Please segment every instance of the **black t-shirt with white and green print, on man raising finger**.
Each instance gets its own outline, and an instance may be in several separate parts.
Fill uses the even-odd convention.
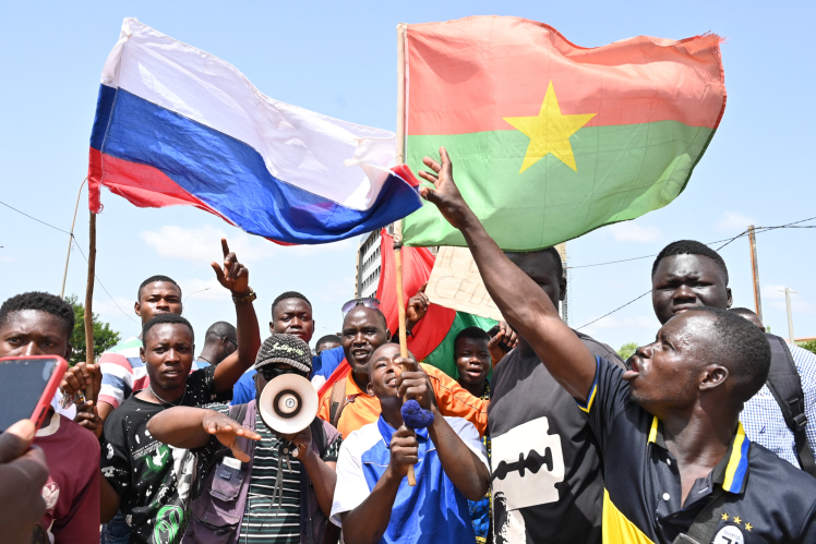
[[[215,366],[190,374],[178,406],[231,399],[231,389],[215,392],[214,375]],[[120,510],[131,528],[131,543],[176,544],[187,525],[195,457],[190,450],[157,442],[147,432],[151,418],[168,407],[132,395],[105,422],[101,471],[121,497]]]

